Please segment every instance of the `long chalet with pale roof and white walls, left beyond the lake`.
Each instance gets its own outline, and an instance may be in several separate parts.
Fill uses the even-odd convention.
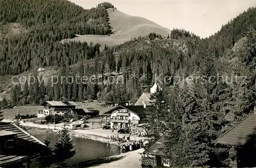
[[[44,106],[44,109],[37,111],[37,117],[45,117],[54,114],[64,115],[70,109],[74,109],[78,106],[78,104],[73,101],[45,101],[41,105]]]

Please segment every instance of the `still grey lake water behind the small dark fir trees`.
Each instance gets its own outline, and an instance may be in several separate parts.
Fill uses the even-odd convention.
[[[44,135],[33,135],[42,141]],[[51,133],[52,143],[50,146],[54,148],[54,144],[58,142],[59,134]],[[74,142],[74,150],[76,154],[67,159],[65,162],[71,165],[74,165],[79,162],[93,160],[108,156],[117,155],[120,153],[120,147],[112,144],[105,144],[98,141],[93,141],[91,139],[81,138],[81,137],[72,137]],[[34,162],[32,164],[35,164]],[[34,167],[31,164],[32,167]]]

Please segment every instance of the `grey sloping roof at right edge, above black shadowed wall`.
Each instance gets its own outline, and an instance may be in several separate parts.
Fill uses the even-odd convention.
[[[216,142],[232,146],[243,146],[253,136],[256,136],[255,113],[248,115],[244,120],[216,139]]]

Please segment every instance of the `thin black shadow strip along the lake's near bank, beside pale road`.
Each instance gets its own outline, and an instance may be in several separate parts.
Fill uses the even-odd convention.
[[[109,158],[100,158],[100,159],[94,159],[94,160],[87,160],[87,161],[81,161],[72,167],[91,167],[100,165],[103,163],[110,163],[112,161],[117,161],[124,158],[124,156],[117,156],[117,157],[109,157]]]

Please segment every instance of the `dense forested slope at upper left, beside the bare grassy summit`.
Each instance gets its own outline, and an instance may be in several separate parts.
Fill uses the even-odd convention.
[[[106,8],[109,3],[84,10],[68,2],[1,1],[2,24],[18,23],[27,31],[15,37],[4,37],[0,44],[0,74],[19,74],[48,66],[72,65],[95,57],[99,44],[68,43],[60,40],[75,34],[111,34]]]

